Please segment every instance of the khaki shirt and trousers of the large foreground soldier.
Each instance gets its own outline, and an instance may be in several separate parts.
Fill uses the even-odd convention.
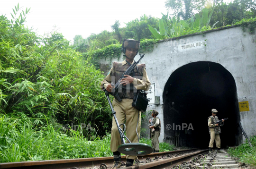
[[[148,90],[150,86],[150,81],[148,79],[148,76],[146,74],[146,68],[145,64],[137,65],[137,68],[134,68],[135,70],[135,76],[134,80],[132,82],[132,87],[135,87],[137,90]],[[113,68],[110,69],[109,74],[106,76],[106,78],[101,82],[101,89],[103,87],[106,89],[108,84],[116,83],[120,76],[129,68],[128,63],[126,60],[123,62],[114,62]],[[139,76],[141,75],[141,76]],[[118,79],[118,80],[117,80]],[[132,91],[132,90],[131,90]],[[126,120],[126,136],[132,143],[137,143],[138,138],[136,134],[136,127],[137,127],[137,119],[138,119],[138,113],[139,113],[139,122],[137,127],[138,135],[140,134],[140,112],[139,110],[132,107],[132,99],[133,94],[129,92],[129,90],[126,91],[126,93],[120,92],[119,96],[121,97],[122,101],[118,101],[116,99],[113,100],[112,105],[114,110],[116,111],[116,116],[118,119],[119,124],[124,123]],[[110,149],[111,152],[117,152],[118,146],[121,144],[121,139],[118,131],[118,127],[116,125],[115,119],[112,119],[112,128],[111,128],[111,142],[110,142]],[[137,156],[130,156],[127,155],[127,159],[137,159]]]

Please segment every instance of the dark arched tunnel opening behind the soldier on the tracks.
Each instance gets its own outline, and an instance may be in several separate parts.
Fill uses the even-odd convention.
[[[236,83],[219,63],[199,61],[176,69],[165,84],[163,101],[165,139],[171,144],[207,148],[211,109],[218,110],[219,120],[229,118],[221,127],[221,148],[241,143]]]

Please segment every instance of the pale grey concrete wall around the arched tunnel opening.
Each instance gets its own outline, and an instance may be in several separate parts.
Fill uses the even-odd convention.
[[[147,108],[147,110],[155,109],[159,111],[158,117],[161,119],[162,123],[161,135],[159,137],[160,142],[168,142],[166,138],[173,136],[172,134],[168,133],[166,129],[167,122],[164,120],[168,118],[165,117],[168,115],[164,113],[164,111],[166,111],[164,110],[165,104],[163,101],[165,84],[176,69],[189,63],[201,61],[221,65],[227,70],[227,72],[230,73],[230,76],[233,77],[237,90],[236,96],[234,96],[237,98],[234,98],[234,100],[237,99],[237,101],[234,103],[236,110],[232,109],[232,111],[237,111],[234,112],[234,116],[238,116],[236,117],[236,120],[241,122],[247,135],[256,135],[255,41],[255,34],[243,32],[241,27],[231,26],[217,31],[209,31],[203,34],[193,34],[183,36],[182,38],[160,41],[158,44],[155,44],[154,51],[145,53],[146,55],[140,63],[146,64],[146,71],[150,82],[155,84],[155,96],[160,96],[160,105],[151,105]],[[121,54],[119,61],[123,60],[122,55],[123,54]],[[138,58],[139,55],[135,57],[135,60],[138,60]],[[105,75],[112,67],[110,63],[113,61],[118,61],[118,59],[100,60],[101,70],[105,73]],[[239,112],[238,103],[242,101],[248,101],[249,110]],[[201,119],[201,127],[208,128],[208,126],[206,126],[206,119],[211,115],[210,107],[208,110],[204,110],[205,114],[198,115],[198,118]],[[215,109],[217,108],[215,107]],[[230,113],[229,116],[230,115],[232,115],[232,113]],[[227,118],[221,115],[221,111],[219,111],[217,116],[219,118]],[[230,121],[226,121],[220,138],[226,138],[224,135],[229,131],[224,128],[231,124],[234,125]],[[147,123],[143,124],[142,122],[142,127],[145,127],[147,130]],[[240,133],[240,136],[236,136],[237,142],[235,144],[238,144],[238,142],[241,143],[241,131],[236,125],[233,127],[233,130],[238,130],[234,133]],[[232,132],[232,127],[228,128]],[[146,131],[146,134],[149,135],[148,130]],[[204,130],[201,135],[208,144],[210,141],[209,133]],[[244,136],[243,140],[245,140]]]

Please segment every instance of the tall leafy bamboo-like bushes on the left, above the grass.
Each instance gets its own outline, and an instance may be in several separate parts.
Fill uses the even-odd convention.
[[[0,113],[23,112],[38,127],[46,124],[44,116],[53,125],[90,123],[94,134],[105,135],[112,120],[99,87],[104,76],[91,64],[98,41],[84,58],[55,30],[40,37],[24,27],[28,11],[15,9],[15,22],[0,16]]]

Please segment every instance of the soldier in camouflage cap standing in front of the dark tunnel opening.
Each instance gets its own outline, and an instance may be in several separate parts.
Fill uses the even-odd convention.
[[[212,150],[213,148],[213,143],[215,140],[216,147],[218,151],[220,151],[220,137],[219,134],[221,133],[219,124],[215,124],[217,121],[219,121],[218,117],[216,116],[217,114],[216,109],[211,110],[211,115],[208,117],[208,127],[209,127],[209,133],[210,133],[210,144],[209,144],[209,151]],[[224,123],[224,120],[222,119],[222,123]]]

